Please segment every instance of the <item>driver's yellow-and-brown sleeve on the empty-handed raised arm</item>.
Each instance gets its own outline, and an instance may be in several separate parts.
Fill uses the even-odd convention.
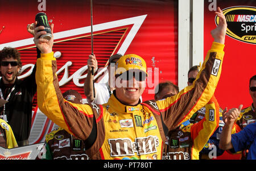
[[[175,96],[156,102],[169,131],[191,118],[212,98],[221,75],[223,49],[224,44],[213,42],[193,85],[185,87]]]

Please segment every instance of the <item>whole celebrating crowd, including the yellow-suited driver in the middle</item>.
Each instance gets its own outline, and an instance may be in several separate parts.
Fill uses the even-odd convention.
[[[245,109],[221,109],[214,91],[220,80],[226,18],[210,33],[214,39],[202,66],[188,71],[183,90],[162,82],[155,99],[142,102],[148,76],[146,62],[135,54],[109,58],[109,81],[93,82],[96,55],[89,55],[84,93],[61,93],[53,57],[53,37],[43,39],[44,26],[28,24],[38,59],[31,75],[18,80],[22,62],[15,48],[0,51],[0,146],[28,145],[32,99],[37,91],[39,109],[59,128],[46,136],[44,159],[212,159],[225,150],[256,159],[256,75],[249,81],[253,103]],[[51,24],[53,34],[53,24]],[[114,66],[114,71],[111,67]],[[115,85],[112,84],[115,80]],[[249,122],[251,121],[251,122]],[[214,153],[212,153],[214,151]]]

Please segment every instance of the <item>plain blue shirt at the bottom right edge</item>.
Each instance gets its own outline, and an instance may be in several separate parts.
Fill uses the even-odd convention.
[[[256,123],[251,123],[242,131],[232,135],[232,145],[236,152],[249,148],[248,160],[256,160]]]

